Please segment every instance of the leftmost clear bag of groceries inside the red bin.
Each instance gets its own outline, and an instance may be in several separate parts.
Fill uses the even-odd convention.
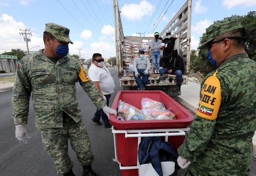
[[[119,100],[117,116],[121,116],[124,120],[145,120],[143,114],[138,108]]]

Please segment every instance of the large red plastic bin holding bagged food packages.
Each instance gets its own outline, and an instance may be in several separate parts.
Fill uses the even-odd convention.
[[[182,107],[178,102],[172,99],[163,91],[119,91],[116,94],[115,100],[112,104],[112,108],[118,110],[119,100],[124,101],[138,109],[141,109],[142,98],[150,98],[164,103],[166,109],[169,109],[176,115],[176,120],[142,120],[142,121],[120,121],[115,118],[114,115],[109,116],[109,122],[114,127],[115,131],[120,133],[114,133],[116,144],[116,157],[120,166],[136,166],[138,156],[138,137],[125,137],[125,133],[122,131],[129,130],[154,130],[154,129],[181,129],[187,128],[191,125],[194,116],[188,112],[187,109]],[[131,131],[130,131],[131,132]],[[162,137],[164,140],[164,137]],[[174,149],[180,147],[185,139],[184,136],[169,136],[168,142],[172,143]],[[120,167],[121,168],[121,167]],[[138,173],[138,169],[122,170],[122,176],[134,175],[131,172]],[[137,174],[135,174],[137,175]]]

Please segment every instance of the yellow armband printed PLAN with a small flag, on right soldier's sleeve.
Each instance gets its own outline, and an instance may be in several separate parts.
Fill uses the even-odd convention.
[[[220,81],[216,77],[217,73],[218,70],[216,70],[213,76],[205,80],[196,111],[197,116],[209,120],[215,120],[217,118],[221,103]]]

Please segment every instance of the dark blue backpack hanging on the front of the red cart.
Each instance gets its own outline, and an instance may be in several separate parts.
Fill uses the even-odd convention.
[[[177,175],[179,156],[174,151],[172,144],[162,141],[160,136],[144,137],[139,145],[138,157],[140,165],[151,163],[159,176],[163,176],[161,162],[172,161],[175,163],[175,172],[171,176]]]

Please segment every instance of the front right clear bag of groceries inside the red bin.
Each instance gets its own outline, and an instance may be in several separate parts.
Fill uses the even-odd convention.
[[[143,108],[141,110],[145,120],[173,120],[176,115],[168,109]]]

